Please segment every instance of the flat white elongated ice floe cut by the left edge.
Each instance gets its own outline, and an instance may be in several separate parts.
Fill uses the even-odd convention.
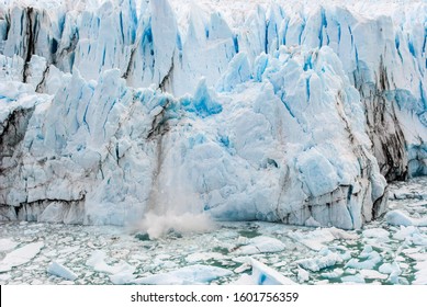
[[[12,270],[13,266],[19,266],[30,262],[44,247],[44,242],[34,242],[26,245],[22,248],[18,248],[8,253],[0,262],[0,273]]]

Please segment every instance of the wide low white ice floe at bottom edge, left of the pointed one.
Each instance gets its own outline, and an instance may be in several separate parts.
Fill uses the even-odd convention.
[[[143,285],[207,284],[216,278],[232,274],[233,272],[226,269],[194,264],[169,273],[159,273],[147,277],[135,278],[130,281],[130,283]]]

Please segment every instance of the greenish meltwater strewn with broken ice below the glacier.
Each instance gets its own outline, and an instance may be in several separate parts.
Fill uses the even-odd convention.
[[[391,184],[389,197],[386,214],[359,230],[216,221],[150,239],[121,227],[1,221],[0,284],[250,284],[255,269],[282,283],[426,284],[427,178]]]

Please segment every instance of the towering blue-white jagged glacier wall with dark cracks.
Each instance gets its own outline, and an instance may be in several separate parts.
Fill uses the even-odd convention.
[[[425,3],[100,2],[0,3],[0,218],[350,229],[427,174]]]

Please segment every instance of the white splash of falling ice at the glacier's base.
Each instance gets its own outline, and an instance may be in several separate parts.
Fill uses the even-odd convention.
[[[164,214],[157,214],[156,212],[148,212],[141,221],[138,229],[147,232],[150,239],[157,239],[170,231],[179,234],[211,231],[215,229],[215,224],[204,213],[176,214],[173,211],[168,211]]]

